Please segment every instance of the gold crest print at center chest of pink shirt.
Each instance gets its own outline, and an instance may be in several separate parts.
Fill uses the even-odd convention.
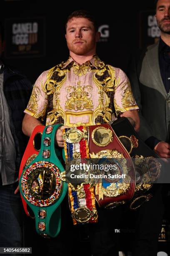
[[[92,95],[90,91],[92,87],[90,85],[80,85],[80,81],[76,86],[67,86],[67,101],[65,102],[65,109],[69,110],[84,110],[93,108]]]

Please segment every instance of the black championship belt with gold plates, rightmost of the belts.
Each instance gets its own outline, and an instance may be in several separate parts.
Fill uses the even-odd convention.
[[[150,189],[160,176],[160,157],[139,137],[128,118],[116,120],[112,128],[133,159],[136,186],[130,208],[137,209],[152,197]]]

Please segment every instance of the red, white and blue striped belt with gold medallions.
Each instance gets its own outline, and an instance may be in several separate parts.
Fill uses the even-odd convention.
[[[87,129],[85,126],[66,128],[63,130],[65,141],[65,159],[90,158],[87,146]],[[97,222],[97,210],[95,207],[94,184],[68,183],[69,207],[72,213],[73,224]]]

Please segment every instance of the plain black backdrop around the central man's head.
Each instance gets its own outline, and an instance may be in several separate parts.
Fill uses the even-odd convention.
[[[1,0],[2,1],[2,0]],[[1,7],[2,6],[2,7]],[[45,56],[27,59],[8,59],[33,82],[44,70],[68,57],[65,41],[65,20],[74,10],[90,10],[100,25],[108,24],[110,38],[97,44],[100,59],[126,72],[129,59],[140,46],[140,12],[154,10],[154,0],[141,1],[2,1],[0,19],[44,17]],[[5,31],[6,35],[9,31]],[[43,39],[42,39],[43,40]]]

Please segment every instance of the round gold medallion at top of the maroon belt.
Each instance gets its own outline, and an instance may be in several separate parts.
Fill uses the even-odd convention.
[[[112,140],[113,135],[109,128],[98,126],[92,131],[92,141],[99,147],[107,146]]]

